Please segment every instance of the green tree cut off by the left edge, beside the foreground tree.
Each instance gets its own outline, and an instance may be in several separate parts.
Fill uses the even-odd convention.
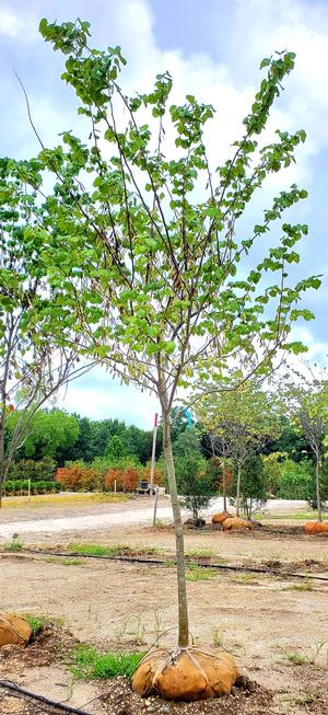
[[[81,338],[72,333],[74,319],[46,281],[40,260],[48,234],[37,206],[39,166],[36,160],[0,159],[0,506],[31,420],[61,385],[86,369],[77,367]]]

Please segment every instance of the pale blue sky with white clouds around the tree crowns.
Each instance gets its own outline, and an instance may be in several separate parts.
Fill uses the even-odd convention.
[[[31,157],[38,146],[13,70],[28,93],[33,118],[44,143],[78,126],[77,103],[61,80],[62,57],[38,34],[42,18],[68,21],[80,16],[92,24],[95,47],[120,45],[128,59],[122,77],[127,92],[152,87],[157,72],[174,78],[174,99],[194,93],[216,109],[209,135],[210,154],[224,161],[260,82],[259,64],[274,50],[296,53],[296,67],[284,82],[269,134],[276,128],[304,128],[306,143],[297,164],[270,180],[271,188],[294,181],[309,197],[293,219],[309,233],[295,276],[323,274],[319,291],[306,296],[315,321],[297,325],[295,339],[308,346],[309,360],[325,360],[328,348],[327,168],[328,168],[328,1],[321,0],[0,0],[0,155]],[[266,193],[263,194],[266,197]],[[253,205],[249,221],[258,219]],[[297,273],[298,272],[298,273]],[[70,383],[58,406],[94,419],[119,417],[150,428],[157,410],[154,397],[113,381],[96,368]]]

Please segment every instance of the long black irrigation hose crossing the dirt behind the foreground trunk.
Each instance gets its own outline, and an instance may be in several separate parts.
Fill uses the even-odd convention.
[[[71,551],[69,554],[67,552],[58,552],[58,551],[42,551],[37,549],[23,549],[25,553],[31,553],[31,554],[40,554],[43,556],[60,556],[60,557],[66,557],[66,558],[71,558],[72,556],[79,557],[79,558],[103,558],[104,561],[120,561],[120,562],[128,562],[129,564],[151,564],[152,566],[163,566],[167,565],[167,558],[141,558],[140,556],[105,556],[105,555],[99,555],[99,554],[80,554],[79,552]],[[169,560],[172,561],[173,564],[176,564],[175,560]],[[213,569],[219,569],[219,570],[237,570],[237,572],[245,572],[245,573],[253,573],[253,574],[271,574],[273,576],[281,576],[281,577],[286,577],[286,578],[301,578],[301,579],[308,579],[312,578],[314,580],[318,581],[327,581],[328,583],[328,577],[327,576],[314,576],[309,574],[285,574],[281,570],[278,570],[277,568],[260,568],[258,566],[233,566],[229,564],[209,564],[207,562],[195,562],[190,560],[187,562],[187,564],[192,563],[197,564],[198,566],[201,566],[202,568],[213,568]]]

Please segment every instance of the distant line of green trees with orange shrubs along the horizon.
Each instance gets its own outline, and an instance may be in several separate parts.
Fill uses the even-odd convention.
[[[223,417],[227,419],[225,403]],[[313,450],[306,435],[288,416],[279,416],[279,424],[274,426],[271,420],[274,438],[269,435],[260,442],[247,438],[250,450],[245,451],[239,465],[238,450],[226,451],[223,433],[221,439],[213,442],[207,419],[199,418],[190,429],[181,410],[176,408],[172,417],[178,489],[187,495],[184,505],[195,518],[215,494],[225,494],[230,500],[237,497],[248,516],[269,497],[307,499],[315,506]],[[8,419],[7,440],[17,419],[19,411]],[[242,437],[241,433],[238,438]],[[156,481],[167,486],[162,440],[160,424]],[[259,449],[256,443],[260,445]],[[40,410],[15,453],[5,492],[24,492],[27,478],[32,480],[35,492],[51,491],[54,480],[72,489],[110,491],[116,483],[118,489],[131,491],[150,474],[151,449],[152,430],[127,425],[117,418],[96,420],[58,408]],[[323,503],[328,499],[326,460],[323,461],[321,497]]]

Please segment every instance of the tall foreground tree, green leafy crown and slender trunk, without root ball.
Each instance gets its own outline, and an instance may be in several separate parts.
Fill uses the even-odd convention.
[[[272,222],[306,196],[295,185],[281,192],[249,237],[245,227],[238,237],[237,221],[254,192],[268,174],[293,161],[305,138],[302,130],[278,132],[277,141],[258,146],[294,55],[263,61],[267,76],[244,120],[244,136],[212,176],[203,127],[213,107],[192,95],[167,107],[168,72],[156,77],[150,93],[127,97],[118,83],[126,64],[120,48],[90,48],[89,28],[80,21],[40,23],[45,39],[67,56],[62,77],[75,90],[92,136],[91,146],[65,132],[66,149],[39,154],[55,177],[45,201],[49,240],[43,260],[49,280],[61,280],[62,301],[73,311],[91,355],[159,397],[176,535],[178,645],[186,647],[184,537],[171,437],[177,390],[209,373],[221,381],[229,360],[237,356],[251,357],[251,370],[259,365],[267,370],[278,348],[300,349],[289,341],[291,323],[312,314],[294,304],[304,290],[319,285],[317,278],[288,285],[286,266],[298,262],[294,245],[307,231],[301,224],[283,223],[278,244],[263,261],[253,255],[249,272],[238,273],[242,257],[251,262],[254,245]],[[169,130],[167,147],[164,130],[165,136]],[[91,192],[84,185],[86,173]]]

